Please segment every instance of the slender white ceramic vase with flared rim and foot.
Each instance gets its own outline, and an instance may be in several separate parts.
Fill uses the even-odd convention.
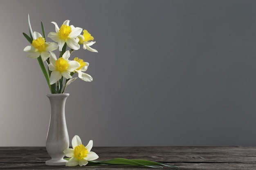
[[[51,160],[45,164],[62,166],[67,162],[63,151],[69,148],[69,137],[65,119],[65,102],[69,94],[47,94],[51,104],[51,118],[46,140],[46,150]]]

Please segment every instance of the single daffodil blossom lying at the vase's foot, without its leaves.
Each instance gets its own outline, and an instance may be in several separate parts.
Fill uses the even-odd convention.
[[[64,150],[66,157],[70,157],[67,161],[66,166],[85,166],[88,161],[98,159],[99,156],[95,152],[91,152],[92,140],[89,141],[87,146],[82,144],[79,136],[75,135],[72,139],[72,148]]]

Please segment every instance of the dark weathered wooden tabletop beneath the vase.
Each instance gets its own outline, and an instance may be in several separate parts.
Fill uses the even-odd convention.
[[[256,147],[94,147],[98,160],[146,159],[179,166],[179,170],[256,170]],[[153,170],[138,166],[46,166],[45,147],[0,147],[0,169],[16,170]],[[164,167],[172,170],[173,168]],[[173,169],[175,170],[175,169]]]

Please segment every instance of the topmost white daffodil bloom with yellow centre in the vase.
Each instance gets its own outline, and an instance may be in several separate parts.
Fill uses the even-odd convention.
[[[61,28],[58,27],[56,22],[52,23],[55,25],[56,33],[50,32],[48,37],[55,42],[58,42],[59,51],[62,51],[65,42],[67,43],[67,46],[73,50],[78,50],[80,48],[80,45],[78,44],[79,38],[77,38],[77,36],[82,32],[82,28],[69,25],[70,20],[65,20],[61,25]]]

